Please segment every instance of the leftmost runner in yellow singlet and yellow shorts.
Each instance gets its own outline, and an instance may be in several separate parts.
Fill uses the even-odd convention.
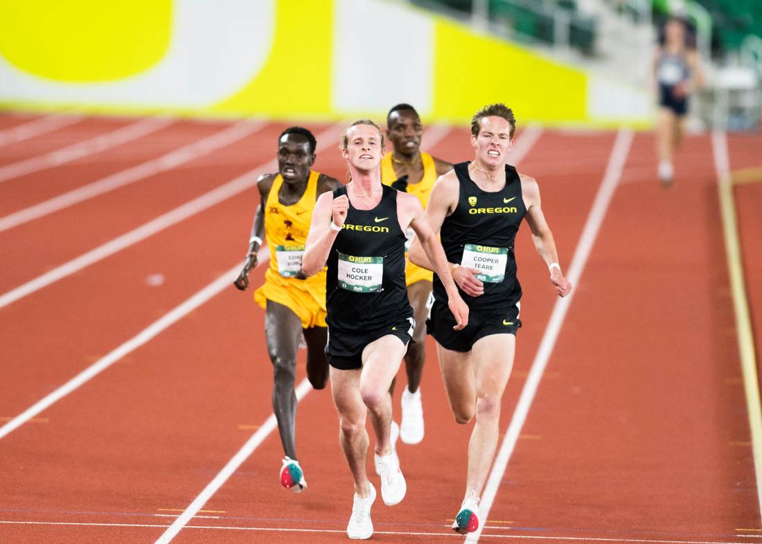
[[[261,203],[251,229],[248,256],[235,280],[242,291],[248,273],[257,266],[262,236],[270,249],[270,266],[264,285],[254,293],[264,308],[264,338],[274,367],[273,410],[278,422],[283,459],[280,482],[293,492],[307,486],[296,457],[296,352],[304,336],[307,344],[307,377],[312,387],[323,389],[328,380],[325,359],[325,270],[312,277],[302,271],[304,245],[317,197],[341,184],[310,170],[315,163],[315,136],[292,126],[278,139],[278,173],[263,174],[257,181]]]

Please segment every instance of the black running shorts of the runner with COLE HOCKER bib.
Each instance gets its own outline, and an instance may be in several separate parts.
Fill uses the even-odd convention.
[[[415,320],[406,317],[390,323],[381,329],[370,332],[345,332],[336,327],[328,327],[328,343],[325,345],[325,356],[331,367],[342,371],[351,371],[363,367],[363,350],[370,342],[375,342],[382,336],[393,335],[408,345],[413,337]]]

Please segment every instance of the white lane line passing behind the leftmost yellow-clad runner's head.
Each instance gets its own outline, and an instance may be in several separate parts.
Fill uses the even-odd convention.
[[[329,145],[326,143],[329,139],[331,141],[330,145],[334,145],[335,142],[338,141],[336,136],[338,136],[339,131],[340,129],[338,128],[338,125],[334,125],[319,134],[319,138],[322,138],[322,144],[318,145],[318,148]],[[249,170],[241,176],[230,180],[228,183],[216,187],[216,189],[209,192],[205,192],[203,195],[198,196],[190,202],[186,202],[178,208],[174,208],[170,212],[160,215],[158,218],[152,219],[132,231],[122,234],[120,237],[114,238],[114,240],[110,240],[109,242],[96,247],[94,250],[90,250],[88,253],[75,257],[75,259],[50,270],[50,272],[39,275],[37,278],[31,279],[23,285],[19,285],[18,287],[11,289],[11,291],[5,292],[0,295],[0,308],[6,307],[8,304],[12,304],[35,291],[39,291],[47,285],[59,281],[59,279],[66,278],[66,276],[72,275],[73,273],[90,266],[94,262],[105,259],[108,256],[114,255],[114,253],[120,252],[126,247],[130,247],[141,240],[145,240],[147,237],[150,237],[159,231],[163,231],[165,228],[171,227],[173,224],[179,223],[192,215],[196,215],[219,202],[223,202],[224,200],[239,194],[239,192],[251,188],[251,186],[255,186],[260,173],[272,170],[277,170],[277,159],[273,159],[259,167]]]

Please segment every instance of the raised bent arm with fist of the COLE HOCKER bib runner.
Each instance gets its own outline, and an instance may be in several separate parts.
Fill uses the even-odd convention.
[[[319,196],[315,211],[312,212],[312,223],[309,224],[302,257],[302,272],[305,275],[315,275],[325,266],[336,235],[347,219],[348,209],[349,199],[346,195],[334,199],[333,192],[324,192]]]

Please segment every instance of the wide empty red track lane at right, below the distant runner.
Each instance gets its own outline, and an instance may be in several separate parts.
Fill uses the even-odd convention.
[[[718,539],[756,490],[709,139],[664,191],[639,135],[549,364],[501,507],[520,534]],[[632,174],[631,172],[635,172]],[[679,210],[679,212],[677,212]],[[534,529],[533,529],[534,528]]]

